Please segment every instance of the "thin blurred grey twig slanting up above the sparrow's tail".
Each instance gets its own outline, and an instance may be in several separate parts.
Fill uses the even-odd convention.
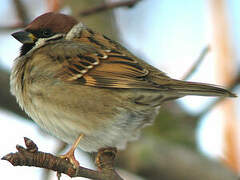
[[[195,61],[195,63],[191,67],[191,69],[183,76],[183,78],[182,78],[183,80],[189,79],[189,77],[196,71],[199,64],[204,60],[204,58],[206,57],[206,55],[208,54],[209,51],[210,51],[209,46],[206,46],[202,50],[202,52],[200,53],[199,57],[197,58],[197,60]]]

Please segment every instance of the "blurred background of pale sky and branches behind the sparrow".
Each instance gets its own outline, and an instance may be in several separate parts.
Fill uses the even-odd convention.
[[[115,8],[94,10],[104,3]],[[240,92],[239,0],[1,0],[0,157],[15,152],[25,136],[44,152],[62,154],[69,148],[40,130],[9,93],[10,68],[21,46],[11,33],[48,11],[75,16],[172,78]],[[238,179],[239,103],[239,98],[190,96],[163,105],[140,140],[119,152],[120,175],[126,180]],[[77,158],[94,168],[92,154],[78,150]],[[0,161],[0,172],[1,179],[56,179],[54,172],[7,161]]]

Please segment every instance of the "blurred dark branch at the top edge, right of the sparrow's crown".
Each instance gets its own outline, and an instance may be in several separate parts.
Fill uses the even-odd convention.
[[[118,8],[118,7],[129,7],[132,8],[134,5],[136,5],[141,0],[129,0],[129,1],[120,1],[120,2],[110,2],[110,3],[103,3],[97,7],[87,9],[85,11],[80,12],[80,16],[88,16],[91,14],[95,14],[98,12],[102,12],[105,10]]]

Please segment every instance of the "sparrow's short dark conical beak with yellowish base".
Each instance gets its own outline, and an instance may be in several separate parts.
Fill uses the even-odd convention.
[[[15,33],[12,33],[12,36],[23,44],[34,43],[37,39],[32,33],[27,31],[15,32]]]

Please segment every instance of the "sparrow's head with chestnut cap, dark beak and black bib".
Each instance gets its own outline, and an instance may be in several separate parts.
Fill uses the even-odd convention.
[[[12,36],[23,44],[20,55],[25,55],[40,38],[59,38],[67,34],[77,23],[72,16],[49,12],[38,16],[23,31],[15,32]]]

